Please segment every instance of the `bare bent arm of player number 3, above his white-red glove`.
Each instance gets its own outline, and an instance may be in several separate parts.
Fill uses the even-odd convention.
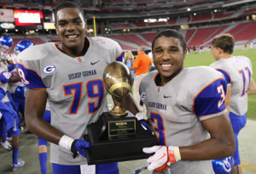
[[[182,160],[212,160],[232,155],[236,140],[228,115],[201,121],[211,138],[194,146],[179,147]]]

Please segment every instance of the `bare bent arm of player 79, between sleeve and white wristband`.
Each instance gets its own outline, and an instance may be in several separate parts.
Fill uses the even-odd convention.
[[[48,122],[44,121],[44,110],[47,102],[47,93],[45,89],[26,91],[26,126],[27,128],[38,135],[40,138],[58,144],[63,133],[56,130]]]

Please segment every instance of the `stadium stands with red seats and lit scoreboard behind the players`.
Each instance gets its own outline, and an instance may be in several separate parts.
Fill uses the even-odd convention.
[[[53,8],[64,0],[0,0],[0,35],[15,43],[58,41]],[[256,42],[255,0],[73,0],[84,9],[89,36],[108,36],[126,50],[144,45],[172,28],[183,33],[189,47],[207,48],[213,36],[235,36],[236,45]],[[94,20],[95,19],[95,20]],[[256,43],[255,43],[256,44]]]

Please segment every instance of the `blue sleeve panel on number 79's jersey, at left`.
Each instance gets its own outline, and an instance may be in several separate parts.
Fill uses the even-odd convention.
[[[27,88],[30,89],[45,89],[44,82],[42,81],[41,76],[38,75],[38,72],[26,68],[25,65],[20,63],[17,64],[17,68],[22,70],[23,75],[20,75],[21,81]]]

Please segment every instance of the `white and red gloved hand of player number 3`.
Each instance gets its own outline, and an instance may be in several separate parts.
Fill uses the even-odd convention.
[[[152,154],[147,160],[149,163],[148,171],[166,171],[168,166],[172,163],[181,160],[178,147],[173,146],[153,146],[150,148],[143,148],[146,154]]]

